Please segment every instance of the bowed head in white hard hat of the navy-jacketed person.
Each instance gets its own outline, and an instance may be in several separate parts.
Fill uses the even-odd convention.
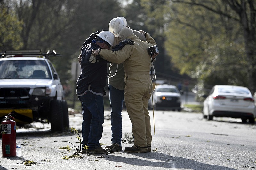
[[[96,44],[98,44],[101,48],[110,49],[111,46],[114,46],[115,36],[110,31],[101,31],[95,35]]]

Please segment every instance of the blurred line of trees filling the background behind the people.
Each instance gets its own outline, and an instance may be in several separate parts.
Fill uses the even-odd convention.
[[[124,16],[149,32],[160,54],[156,76],[171,84],[189,79],[207,93],[213,85],[256,88],[256,20],[253,0],[0,0],[0,51],[54,49],[62,84],[70,82],[85,39]],[[73,92],[72,92],[73,93]]]

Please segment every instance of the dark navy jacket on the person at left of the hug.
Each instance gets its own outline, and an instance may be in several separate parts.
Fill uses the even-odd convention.
[[[87,39],[88,40],[88,39]],[[82,96],[88,90],[90,84],[90,92],[97,95],[106,95],[104,87],[107,83],[107,63],[101,59],[99,62],[91,63],[89,58],[92,55],[92,50],[100,48],[97,44],[85,41],[82,48],[81,74],[77,79],[77,96]]]

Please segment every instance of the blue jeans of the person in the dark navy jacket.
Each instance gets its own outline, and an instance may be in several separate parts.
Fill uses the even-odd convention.
[[[86,92],[83,96],[78,96],[82,102],[83,122],[82,122],[82,146],[87,145],[90,149],[100,146],[99,141],[103,133],[104,104],[103,96]]]

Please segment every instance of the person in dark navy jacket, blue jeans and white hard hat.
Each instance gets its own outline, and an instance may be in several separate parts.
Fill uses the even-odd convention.
[[[107,80],[106,60],[91,63],[89,58],[93,49],[110,49],[114,43],[114,34],[109,31],[98,31],[92,34],[81,48],[81,74],[77,79],[76,94],[82,102],[82,147],[83,153],[107,153],[109,148],[102,148],[99,141],[102,137],[104,122],[103,95]],[[84,146],[88,146],[85,148]]]

